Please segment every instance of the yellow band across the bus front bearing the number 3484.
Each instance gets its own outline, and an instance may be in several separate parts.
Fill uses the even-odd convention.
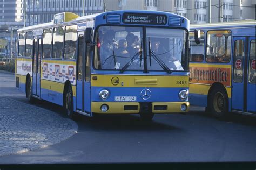
[[[91,86],[97,87],[188,87],[188,76],[96,75]]]

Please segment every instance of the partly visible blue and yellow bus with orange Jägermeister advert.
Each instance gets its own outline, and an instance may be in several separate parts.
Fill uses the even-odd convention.
[[[255,25],[255,20],[191,25],[191,104],[216,117],[256,115]],[[194,41],[195,29],[200,44]]]

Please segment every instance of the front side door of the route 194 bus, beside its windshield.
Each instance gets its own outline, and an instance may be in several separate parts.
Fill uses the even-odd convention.
[[[91,83],[88,81],[88,76],[90,72],[90,59],[87,59],[87,54],[89,52],[86,50],[84,32],[78,33],[78,51],[77,51],[77,79],[76,79],[76,110],[81,111],[82,114],[90,116],[91,112]],[[89,63],[87,65],[86,63]],[[90,73],[91,74],[91,73]]]

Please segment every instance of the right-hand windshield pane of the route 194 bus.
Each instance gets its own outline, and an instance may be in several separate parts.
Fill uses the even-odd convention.
[[[185,70],[185,30],[147,28],[147,68],[149,70]],[[183,63],[184,62],[184,63]]]

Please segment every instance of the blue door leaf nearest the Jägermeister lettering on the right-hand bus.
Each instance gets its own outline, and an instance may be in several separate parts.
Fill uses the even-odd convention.
[[[233,80],[231,105],[234,111],[247,108],[247,37],[233,38]]]

